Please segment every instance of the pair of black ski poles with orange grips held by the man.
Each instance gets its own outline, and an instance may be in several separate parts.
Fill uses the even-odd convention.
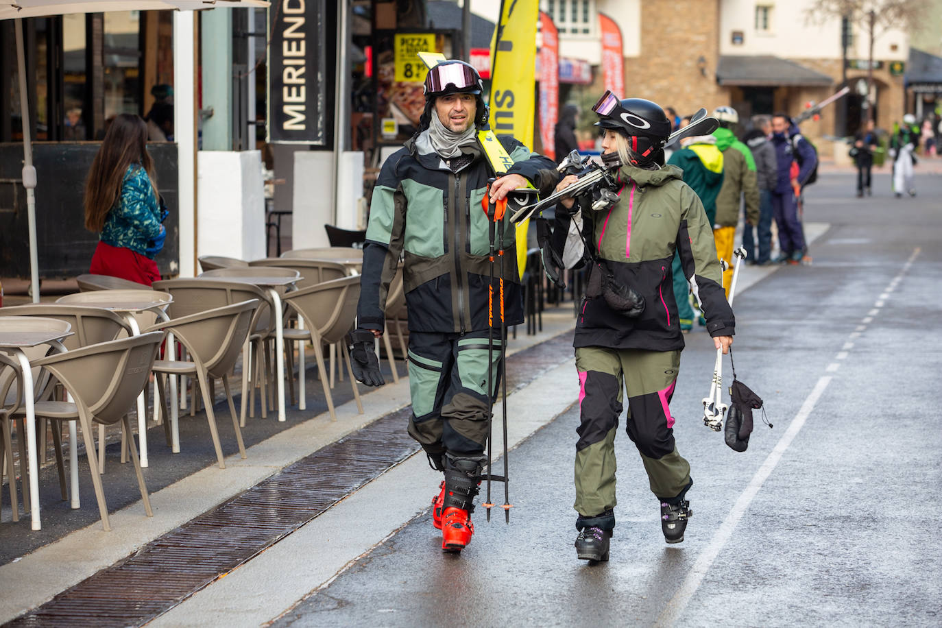
[[[494,185],[495,179],[488,182],[487,189],[484,192],[484,199],[481,205],[484,209],[484,215],[487,216],[488,239],[490,240],[490,252],[488,261],[490,264],[490,278],[487,286],[487,395],[489,411],[494,406],[494,395],[496,387],[494,385],[494,293],[495,293],[495,254],[500,261],[500,271],[498,276],[498,300],[500,312],[500,362],[497,365],[500,373],[501,405],[504,427],[504,475],[493,475],[491,473],[491,462],[493,460],[491,443],[493,435],[493,411],[490,412],[487,420],[487,500],[482,505],[487,511],[487,521],[491,521],[491,508],[495,504],[491,502],[491,480],[504,483],[504,519],[506,523],[511,523],[511,501],[510,501],[510,476],[508,475],[507,465],[507,322],[504,318],[504,215],[507,213],[507,199],[491,202],[491,185]],[[495,239],[499,245],[495,246]]]

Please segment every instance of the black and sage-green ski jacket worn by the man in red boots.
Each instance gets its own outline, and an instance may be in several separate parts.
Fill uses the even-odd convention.
[[[508,174],[522,175],[542,193],[552,191],[560,179],[552,160],[530,153],[513,137],[498,139],[514,162]],[[389,284],[404,255],[409,330],[487,329],[490,240],[481,200],[487,180],[495,175],[479,145],[473,148],[471,161],[454,172],[423,132],[383,164],[366,228],[359,327],[383,329]],[[523,292],[509,217],[510,212],[504,217],[504,319],[517,325],[524,319]],[[500,326],[498,303],[495,292],[495,328]]]

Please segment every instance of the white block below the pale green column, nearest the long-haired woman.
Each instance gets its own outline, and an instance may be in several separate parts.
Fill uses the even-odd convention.
[[[262,153],[200,151],[197,171],[197,255],[265,257]]]

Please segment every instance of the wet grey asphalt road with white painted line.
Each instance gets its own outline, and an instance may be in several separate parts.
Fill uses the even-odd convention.
[[[736,298],[737,372],[774,425],[745,453],[702,425],[714,353],[688,336],[671,406],[695,481],[685,542],[664,543],[622,431],[611,559],[576,559],[570,409],[512,452],[511,525],[479,509],[472,544],[443,555],[427,512],[276,623],[938,625],[942,177],[899,201],[874,183],[858,201],[851,175],[822,176],[813,265]]]

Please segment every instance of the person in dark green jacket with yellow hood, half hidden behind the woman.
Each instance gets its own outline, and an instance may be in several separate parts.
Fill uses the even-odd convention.
[[[723,153],[716,147],[716,137],[697,136],[681,140],[684,147],[671,155],[667,163],[683,170],[684,183],[690,185],[707,212],[707,224],[716,224],[716,197],[723,187]],[[693,327],[693,308],[690,307],[690,283],[681,272],[680,258],[674,255],[674,298],[680,316],[680,329]]]

